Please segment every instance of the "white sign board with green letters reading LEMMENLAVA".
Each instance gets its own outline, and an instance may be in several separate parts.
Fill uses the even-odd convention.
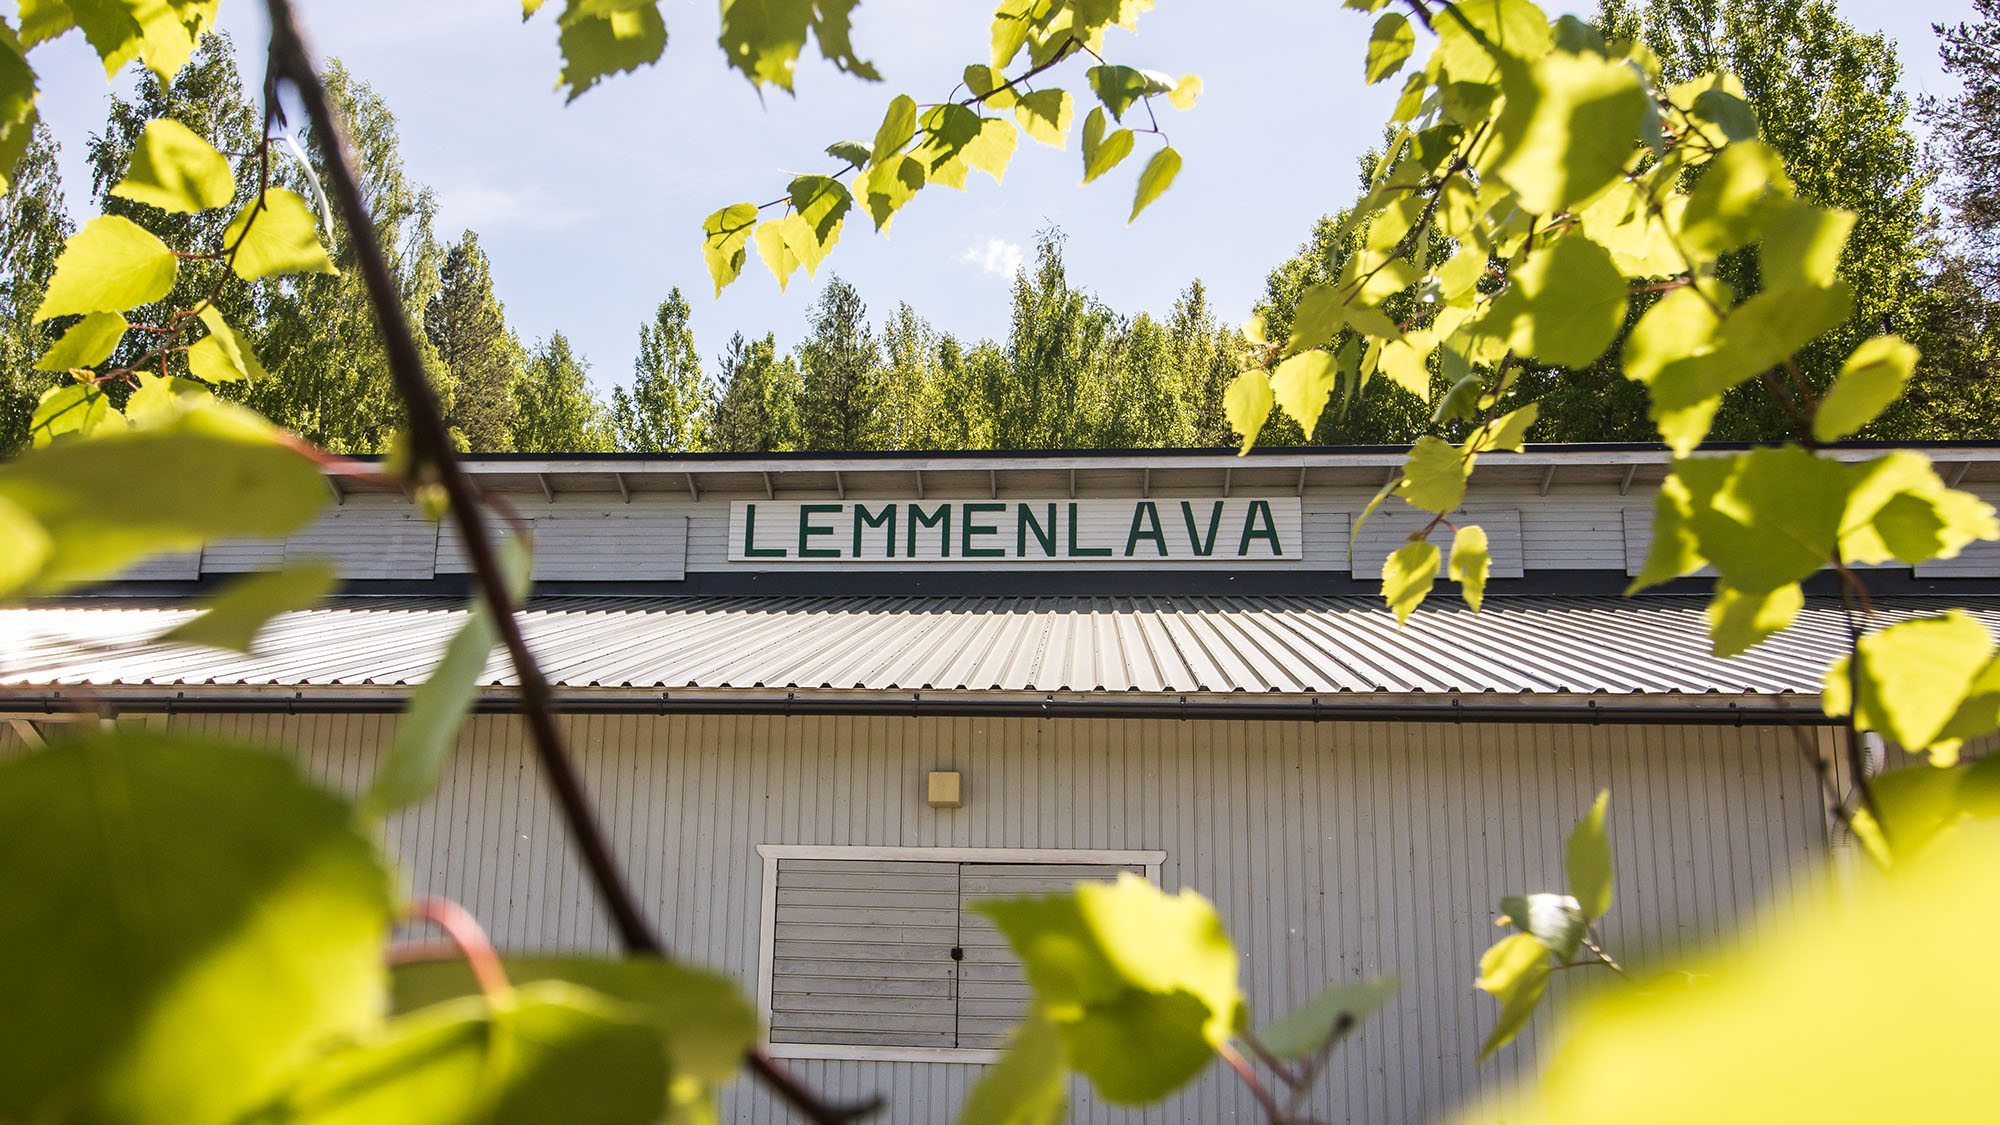
[[[1296,496],[736,500],[730,562],[1268,562],[1304,556]]]

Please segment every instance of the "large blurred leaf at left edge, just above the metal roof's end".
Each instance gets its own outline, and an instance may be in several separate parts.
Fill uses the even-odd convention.
[[[206,406],[160,428],[20,456],[0,466],[0,496],[50,540],[36,575],[16,589],[56,591],[212,538],[288,534],[326,502],[326,482],[262,418]]]

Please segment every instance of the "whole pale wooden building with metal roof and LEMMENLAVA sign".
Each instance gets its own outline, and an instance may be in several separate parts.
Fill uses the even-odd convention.
[[[2000,446],[1930,452],[2000,498]],[[534,520],[524,627],[644,909],[676,955],[742,981],[806,1081],[882,1093],[890,1121],[950,1119],[1024,997],[966,907],[1132,869],[1216,901],[1260,1019],[1328,981],[1400,977],[1316,1111],[1426,1121],[1534,1065],[1532,1039],[1476,1065],[1494,1005],[1474,963],[1500,895],[1560,885],[1598,789],[1618,861],[1604,931],[1626,961],[1718,933],[1830,847],[1806,751],[1834,745],[1816,693],[1844,627],[1808,597],[1792,633],[1712,659],[1700,581],[1616,597],[1666,454],[1544,446],[1474,476],[1486,611],[1446,587],[1398,631],[1374,575],[1416,516],[1392,502],[1350,528],[1400,456],[472,470]],[[462,619],[466,560],[400,496],[330,486],[338,504],[290,540],[0,611],[0,739],[112,709],[296,747],[328,783],[366,785]],[[302,556],[338,560],[346,587],[256,655],[150,641],[192,593]],[[1994,544],[1870,581],[1890,615],[1964,605],[2000,623]],[[502,947],[610,951],[502,657],[484,683],[392,851],[412,893],[458,899]],[[748,1085],[726,1109],[782,1119]],[[1142,1113],[1078,1087],[1072,1113],[1258,1119],[1220,1067]]]

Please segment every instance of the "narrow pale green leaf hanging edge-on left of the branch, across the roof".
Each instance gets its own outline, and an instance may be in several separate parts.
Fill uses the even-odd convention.
[[[520,536],[502,538],[496,546],[506,595],[512,603],[528,593],[528,544]],[[500,641],[494,607],[480,597],[466,623],[438,657],[424,687],[410,695],[410,705],[396,723],[396,741],[376,769],[374,785],[362,803],[370,815],[388,815],[414,805],[438,787],[438,775],[458,741],[458,725],[480,695],[480,673]]]

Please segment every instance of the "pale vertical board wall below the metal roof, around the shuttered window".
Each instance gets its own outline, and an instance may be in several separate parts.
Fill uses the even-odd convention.
[[[176,717],[294,745],[354,791],[392,717]],[[1474,1067],[1492,1003],[1472,989],[1510,891],[1562,881],[1562,839],[1612,789],[1612,949],[1646,965],[1718,933],[1824,849],[1810,771],[1780,729],[1034,719],[572,717],[586,783],[670,947],[758,965],[760,843],[1166,849],[1166,889],[1208,893],[1260,1021],[1332,979],[1392,973],[1394,1005],[1342,1049],[1314,1107],[1428,1121],[1534,1043]],[[964,773],[930,809],[924,773]],[[512,949],[610,951],[518,721],[474,719],[438,795],[390,825],[412,893],[468,905]],[[1572,975],[1574,977],[1574,975]],[[1568,981],[1564,981],[1568,985]],[[1546,1021],[1544,1021],[1546,1025]],[[892,1121],[946,1121],[974,1065],[794,1063]],[[734,1121],[782,1121],[738,1085]],[[1256,1121],[1212,1069],[1176,1101],[1076,1121]]]

